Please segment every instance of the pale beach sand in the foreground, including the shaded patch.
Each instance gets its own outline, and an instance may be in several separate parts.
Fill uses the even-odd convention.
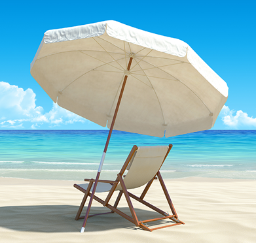
[[[153,232],[143,231],[117,214],[106,214],[89,218],[86,231],[80,233],[82,219],[74,218],[82,193],[73,184],[0,178],[0,242],[256,242],[256,180],[166,180],[185,225]],[[133,192],[139,194],[141,188]],[[145,200],[171,212],[158,181]],[[133,203],[139,220],[158,217]],[[128,213],[124,197],[119,207]],[[98,202],[92,204],[92,214],[107,210]]]

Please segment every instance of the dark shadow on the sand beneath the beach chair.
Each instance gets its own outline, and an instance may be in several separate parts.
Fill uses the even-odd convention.
[[[75,220],[78,208],[78,206],[73,205],[4,206],[0,207],[0,227],[15,231],[41,233],[79,232],[83,219]],[[119,210],[130,216],[129,208],[119,208]],[[148,210],[137,208],[135,210],[139,221],[160,216],[160,214]],[[90,210],[90,214],[103,212],[109,212],[109,210],[93,206]],[[85,211],[81,215],[84,214]],[[161,221],[159,222],[166,222]],[[86,231],[89,232],[124,228],[142,230],[115,213],[90,217],[86,223]]]

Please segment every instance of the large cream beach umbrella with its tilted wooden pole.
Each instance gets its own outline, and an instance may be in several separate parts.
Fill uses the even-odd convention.
[[[202,131],[228,97],[188,44],[115,21],[46,31],[31,75],[54,103],[110,128],[86,216],[114,125],[155,137]]]

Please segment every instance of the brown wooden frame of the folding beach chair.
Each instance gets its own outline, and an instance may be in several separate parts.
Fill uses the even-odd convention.
[[[164,157],[164,160],[166,159],[166,157],[169,154],[171,149],[172,149],[172,144],[169,145],[169,148],[168,148],[168,151],[166,153],[166,156]],[[155,231],[156,229],[162,229],[162,228],[171,227],[171,226],[174,226],[174,225],[185,224],[182,221],[180,221],[178,216],[177,216],[177,213],[176,213],[175,208],[174,208],[174,204],[172,203],[172,200],[171,200],[170,195],[169,195],[169,193],[166,189],[166,186],[164,184],[164,180],[162,179],[162,176],[161,176],[159,170],[156,173],[156,175],[147,183],[147,186],[145,187],[145,189],[141,193],[140,197],[137,197],[136,195],[127,191],[126,186],[124,184],[124,180],[122,179],[122,176],[124,174],[124,171],[126,170],[126,167],[130,163],[130,160],[132,159],[134,153],[136,152],[136,150],[137,150],[137,146],[134,146],[132,148],[130,154],[128,155],[124,165],[122,166],[122,169],[120,170],[119,174],[117,174],[117,179],[115,181],[114,180],[98,180],[98,182],[109,183],[109,184],[113,185],[111,187],[111,190],[109,191],[109,194],[107,195],[105,201],[103,201],[99,197],[96,197],[96,195],[93,196],[94,200],[100,202],[103,206],[105,206],[105,207],[107,207],[111,210],[111,212],[105,212],[105,213],[101,213],[101,214],[111,214],[111,213],[116,212],[117,214],[119,214],[123,218],[125,218],[128,221],[134,223],[137,227],[140,227],[141,229],[146,230],[146,231]],[[164,160],[162,161],[162,163],[164,163]],[[153,181],[156,178],[158,178],[158,180],[160,182],[160,185],[162,187],[162,190],[164,191],[164,195],[166,196],[166,200],[168,201],[170,209],[172,210],[172,215],[160,210],[160,208],[156,208],[156,206],[153,206],[149,202],[143,200],[147,191],[149,190],[149,187],[151,187],[151,184],[153,183]],[[90,189],[92,188],[92,185],[95,182],[95,179],[84,179],[84,181],[89,182],[89,185],[88,185],[86,190],[84,188],[82,188],[81,186],[79,186],[77,184],[74,184],[75,188],[79,189],[80,191],[82,191],[84,193],[84,197],[82,199],[82,202],[81,202],[81,205],[80,205],[79,210],[77,212],[77,216],[75,217],[75,220],[82,219],[82,218],[86,218],[86,220],[87,220],[87,218],[90,218],[92,216],[100,215],[100,214],[87,215],[87,213],[86,213],[86,216],[81,217],[82,208],[84,208],[84,204],[86,202],[86,199],[88,198],[88,196],[91,197],[91,195],[92,195],[92,193],[90,193]],[[113,193],[114,193],[114,191],[115,191],[115,189],[116,189],[116,187],[119,183],[120,183],[120,186],[122,187],[122,190],[119,191],[119,195],[117,196],[115,204],[112,206],[111,204],[109,204],[109,200],[111,199],[111,197],[112,197],[112,195],[113,195]],[[124,212],[117,209],[117,206],[118,206],[119,201],[122,197],[122,194],[124,194],[124,196],[126,198],[128,206],[130,208],[130,212],[132,214],[132,217],[128,216],[127,214],[124,214]],[[138,202],[141,202],[142,204],[144,204],[145,206],[148,206],[149,208],[155,210],[159,214],[162,214],[163,217],[139,221],[137,219],[137,215],[136,215],[136,212],[134,210],[134,206],[132,205],[131,198],[135,199]],[[152,222],[152,221],[158,221],[158,220],[161,220],[161,219],[171,219],[175,223],[164,225],[162,227],[155,227],[155,228],[151,228],[151,229],[148,226],[145,225],[145,223]]]

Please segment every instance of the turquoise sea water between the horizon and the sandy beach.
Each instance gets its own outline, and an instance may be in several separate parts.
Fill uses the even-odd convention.
[[[108,131],[0,131],[0,176],[51,180],[94,178]],[[256,131],[210,130],[170,138],[113,131],[101,178],[117,176],[132,146],[173,144],[164,178],[256,180]]]

